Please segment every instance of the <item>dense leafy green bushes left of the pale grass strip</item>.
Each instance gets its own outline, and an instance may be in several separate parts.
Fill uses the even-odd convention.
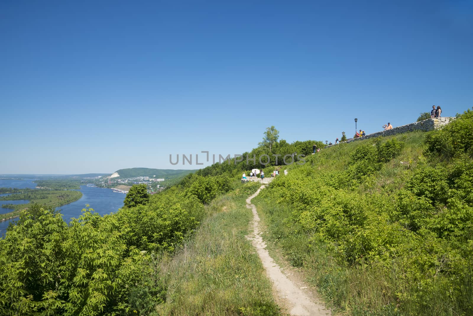
[[[200,180],[191,176],[188,186]],[[205,180],[218,194],[233,187],[225,176]],[[159,261],[195,231],[206,209],[186,188],[154,194],[146,205],[146,186],[134,188],[120,211],[84,209],[69,225],[38,205],[21,211],[0,239],[0,314],[155,313],[166,299]]]

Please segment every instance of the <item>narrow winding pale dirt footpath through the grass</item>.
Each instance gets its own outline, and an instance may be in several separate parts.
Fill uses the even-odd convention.
[[[321,304],[314,303],[309,298],[306,291],[300,289],[293,281],[289,280],[289,278],[281,272],[280,266],[274,262],[268,251],[265,249],[266,244],[264,243],[259,230],[260,217],[256,211],[256,206],[251,203],[251,199],[257,196],[263,188],[264,185],[262,185],[256,193],[246,199],[246,207],[253,211],[253,234],[247,236],[247,238],[252,241],[253,246],[256,248],[260,259],[263,262],[266,274],[272,280],[273,287],[277,290],[280,298],[288,304],[290,315],[331,315],[330,310],[325,309]],[[306,287],[302,288],[304,289]]]

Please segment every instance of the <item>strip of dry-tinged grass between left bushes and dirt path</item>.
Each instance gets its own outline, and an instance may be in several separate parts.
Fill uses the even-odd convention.
[[[255,190],[251,190],[254,192]],[[246,239],[248,192],[216,198],[212,214],[173,257],[159,264],[166,303],[159,315],[280,315],[262,263]]]

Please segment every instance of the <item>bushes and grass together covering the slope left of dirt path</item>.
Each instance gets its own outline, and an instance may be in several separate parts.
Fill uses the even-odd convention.
[[[141,205],[84,209],[69,225],[37,205],[21,211],[0,239],[0,314],[278,315],[244,237],[256,186],[188,175]]]

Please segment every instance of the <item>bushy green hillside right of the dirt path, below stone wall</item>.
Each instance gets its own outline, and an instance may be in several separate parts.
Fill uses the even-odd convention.
[[[473,112],[341,144],[254,199],[267,238],[351,315],[473,315]]]

